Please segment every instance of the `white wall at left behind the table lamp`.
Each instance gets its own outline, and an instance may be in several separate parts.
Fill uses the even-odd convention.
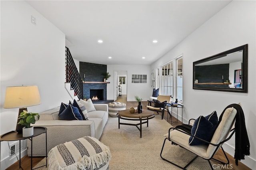
[[[16,128],[17,109],[3,109],[7,86],[38,85],[41,105],[28,107],[40,113],[68,102],[65,82],[65,35],[25,1],[1,1],[0,134]],[[36,25],[30,17],[36,18]],[[12,143],[12,142],[11,142]],[[1,142],[1,170],[9,160],[7,142]],[[12,162],[14,161],[14,162]]]

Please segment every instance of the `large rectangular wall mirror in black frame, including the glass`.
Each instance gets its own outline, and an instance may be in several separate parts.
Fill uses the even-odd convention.
[[[247,93],[248,44],[193,62],[193,89]]]

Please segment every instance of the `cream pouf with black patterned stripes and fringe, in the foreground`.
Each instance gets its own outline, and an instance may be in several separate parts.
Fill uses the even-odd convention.
[[[59,144],[48,156],[49,169],[55,170],[108,169],[110,159],[109,147],[91,136]]]

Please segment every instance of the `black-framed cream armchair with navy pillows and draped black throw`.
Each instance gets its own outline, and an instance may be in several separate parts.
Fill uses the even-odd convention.
[[[245,155],[250,155],[250,142],[244,120],[244,112],[240,103],[228,105],[221,113],[219,120],[216,111],[206,117],[200,116],[198,119],[190,119],[188,125],[192,124],[192,126],[190,126],[191,131],[178,128],[177,126],[170,128],[168,133],[164,134],[165,139],[160,157],[181,169],[186,169],[197,157],[201,157],[207,160],[210,169],[214,170],[210,160],[215,160],[221,164],[229,164],[222,144],[230,140],[233,134],[235,134],[234,159],[236,165],[238,165],[238,160],[244,159]],[[170,144],[175,144],[181,146],[183,149],[189,150],[195,154],[195,157],[191,158],[191,161],[188,162],[186,166],[178,165],[179,162],[174,163],[174,161],[170,160],[168,157],[168,154],[170,154],[169,150],[164,147],[165,144],[169,144],[167,141],[170,142]],[[222,154],[224,154],[226,158],[225,162],[213,158],[218,150],[222,151]],[[219,154],[221,154],[221,152]]]

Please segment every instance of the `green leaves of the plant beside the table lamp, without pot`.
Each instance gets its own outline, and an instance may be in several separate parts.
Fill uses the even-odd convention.
[[[38,113],[31,113],[28,111],[23,111],[20,113],[20,116],[18,119],[20,119],[19,123],[20,125],[25,125],[25,128],[30,128],[31,123],[34,124],[36,123],[35,117],[40,117]]]

